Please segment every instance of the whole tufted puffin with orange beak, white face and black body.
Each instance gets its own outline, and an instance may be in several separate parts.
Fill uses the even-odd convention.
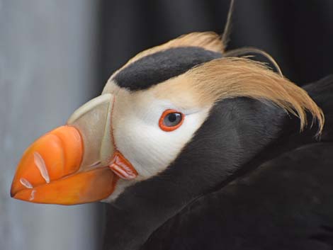
[[[136,55],[26,149],[11,196],[108,203],[104,249],[332,249],[333,76],[235,54],[205,32]]]

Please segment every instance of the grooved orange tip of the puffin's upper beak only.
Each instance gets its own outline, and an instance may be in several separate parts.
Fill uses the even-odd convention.
[[[11,195],[63,178],[79,170],[83,145],[74,127],[58,127],[34,142],[16,169]]]

